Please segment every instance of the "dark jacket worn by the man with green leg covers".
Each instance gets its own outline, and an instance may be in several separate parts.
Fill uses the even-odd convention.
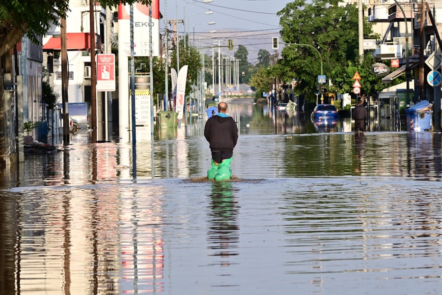
[[[238,141],[238,127],[232,117],[215,115],[207,120],[204,137],[210,144],[210,150],[233,152]]]

